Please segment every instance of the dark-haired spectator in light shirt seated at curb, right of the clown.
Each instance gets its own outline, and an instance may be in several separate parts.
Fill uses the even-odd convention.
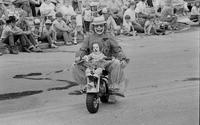
[[[134,31],[131,17],[129,15],[126,15],[124,19],[125,23],[123,24],[123,34],[127,36],[135,36],[136,32]]]

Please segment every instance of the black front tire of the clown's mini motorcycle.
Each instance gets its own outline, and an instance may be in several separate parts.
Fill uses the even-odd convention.
[[[99,100],[96,94],[87,94],[86,107],[90,113],[96,113],[99,109]]]

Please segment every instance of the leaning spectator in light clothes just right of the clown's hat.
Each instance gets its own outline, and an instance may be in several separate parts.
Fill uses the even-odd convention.
[[[108,10],[107,8],[103,8],[102,14],[107,23],[107,31],[110,32],[112,35],[115,35],[117,32],[119,32],[121,27],[116,24],[110,13],[110,10]]]

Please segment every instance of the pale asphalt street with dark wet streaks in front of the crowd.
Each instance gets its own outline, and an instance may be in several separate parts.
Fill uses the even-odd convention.
[[[126,97],[96,114],[68,94],[80,44],[0,56],[0,125],[199,125],[199,33],[118,37],[131,60]]]

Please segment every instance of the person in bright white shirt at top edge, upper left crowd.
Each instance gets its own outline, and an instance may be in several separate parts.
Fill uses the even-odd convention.
[[[55,18],[55,5],[51,3],[51,0],[44,0],[40,6],[40,13],[43,16]]]

